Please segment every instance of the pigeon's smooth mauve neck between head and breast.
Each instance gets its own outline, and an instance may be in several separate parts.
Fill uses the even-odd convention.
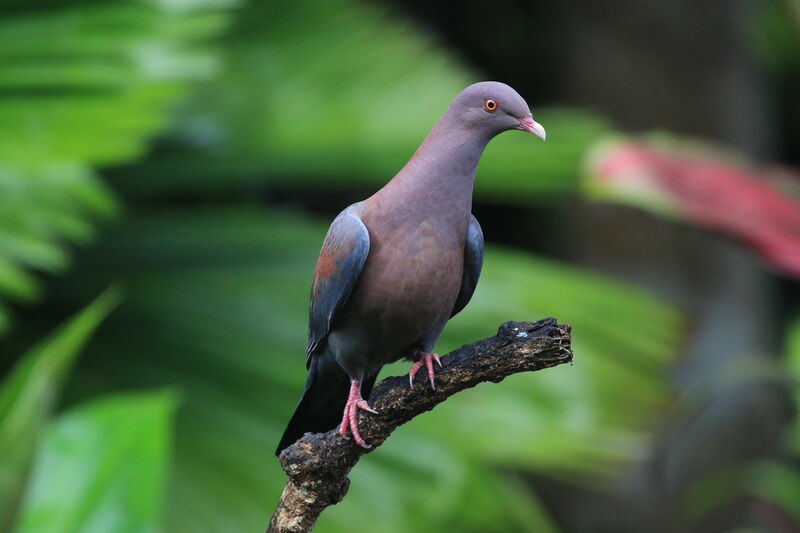
[[[457,125],[447,114],[434,126],[406,166],[386,185],[420,207],[472,207],[472,188],[491,135]]]

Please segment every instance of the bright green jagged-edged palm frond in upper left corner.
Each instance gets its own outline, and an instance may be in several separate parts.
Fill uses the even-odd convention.
[[[116,212],[90,165],[139,157],[185,81],[208,75],[199,46],[229,0],[5,1],[0,19],[0,334],[3,299],[35,300],[26,270],[65,267],[68,242]]]

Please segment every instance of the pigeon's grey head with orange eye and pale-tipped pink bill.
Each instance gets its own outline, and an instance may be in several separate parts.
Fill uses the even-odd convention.
[[[479,128],[490,135],[507,130],[533,133],[542,140],[546,133],[533,120],[531,110],[517,91],[497,81],[482,81],[470,85],[450,104],[455,119],[469,128]]]

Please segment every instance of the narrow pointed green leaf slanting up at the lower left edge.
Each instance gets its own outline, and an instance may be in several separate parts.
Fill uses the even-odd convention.
[[[31,348],[0,388],[0,531],[15,515],[34,447],[61,382],[100,322],[120,299],[110,289]]]

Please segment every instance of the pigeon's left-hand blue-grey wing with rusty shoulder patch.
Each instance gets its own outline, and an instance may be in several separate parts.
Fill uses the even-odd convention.
[[[308,309],[306,364],[355,287],[369,255],[369,232],[353,204],[331,224],[314,271]]]

